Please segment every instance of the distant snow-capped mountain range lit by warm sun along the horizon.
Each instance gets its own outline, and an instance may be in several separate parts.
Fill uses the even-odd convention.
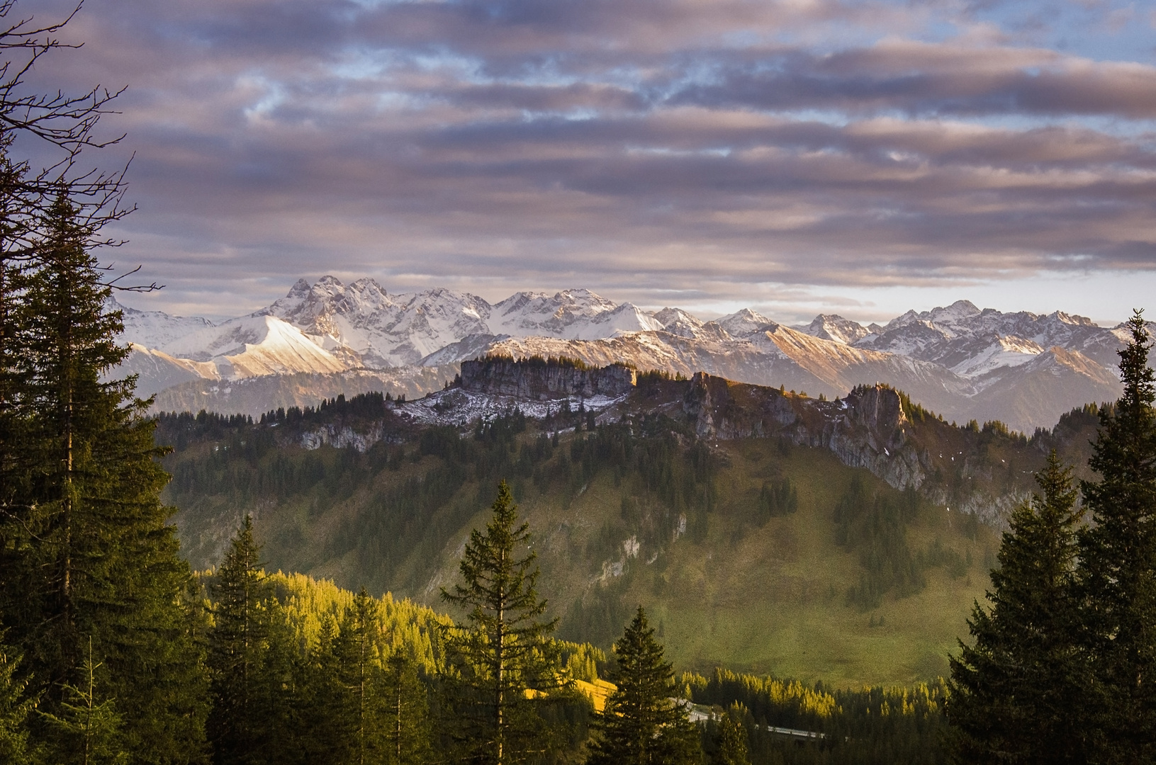
[[[1061,311],[1003,313],[958,300],[885,325],[821,314],[787,326],[744,309],[703,321],[645,311],[585,289],[517,292],[490,304],[468,292],[390,294],[371,278],[299,280],[286,297],[218,324],[124,311],[124,371],[160,410],[259,414],[376,389],[422,395],[465,359],[570,357],[625,363],[836,398],[887,382],[948,419],[999,419],[1030,432],[1073,407],[1118,398],[1122,327]],[[1156,327],[1156,325],[1149,325]]]

